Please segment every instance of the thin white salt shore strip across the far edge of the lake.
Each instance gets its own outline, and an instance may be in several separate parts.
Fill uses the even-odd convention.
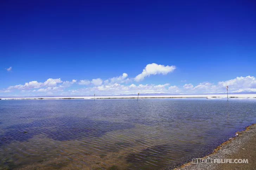
[[[139,95],[139,98],[226,98],[226,94],[201,94],[201,95]],[[95,96],[95,99],[131,99],[137,95],[127,96]],[[229,98],[256,98],[256,94],[229,94]],[[4,99],[94,99],[93,96],[79,97],[11,97]]]

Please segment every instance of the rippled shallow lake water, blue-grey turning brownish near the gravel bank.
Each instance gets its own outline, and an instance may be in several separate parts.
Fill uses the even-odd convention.
[[[160,169],[252,123],[256,99],[0,100],[0,169]]]

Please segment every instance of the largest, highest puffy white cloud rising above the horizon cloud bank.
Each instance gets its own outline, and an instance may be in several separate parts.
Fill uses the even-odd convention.
[[[174,65],[164,66],[164,65],[159,65],[159,64],[156,64],[156,63],[147,64],[145,69],[143,69],[142,73],[137,75],[134,79],[135,79],[136,82],[139,82],[147,76],[156,75],[156,74],[166,75],[167,73],[172,72],[175,69],[176,69],[176,67]]]

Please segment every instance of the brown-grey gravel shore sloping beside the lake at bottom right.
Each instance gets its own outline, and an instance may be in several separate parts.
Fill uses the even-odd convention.
[[[235,137],[222,143],[213,153],[203,157],[212,163],[186,163],[175,170],[256,170],[256,124],[237,132]],[[248,163],[214,163],[215,159],[248,159]],[[172,168],[165,168],[165,170]]]

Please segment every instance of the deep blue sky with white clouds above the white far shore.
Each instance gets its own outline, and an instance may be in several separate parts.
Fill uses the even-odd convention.
[[[256,92],[255,9],[253,1],[1,1],[0,96]]]

